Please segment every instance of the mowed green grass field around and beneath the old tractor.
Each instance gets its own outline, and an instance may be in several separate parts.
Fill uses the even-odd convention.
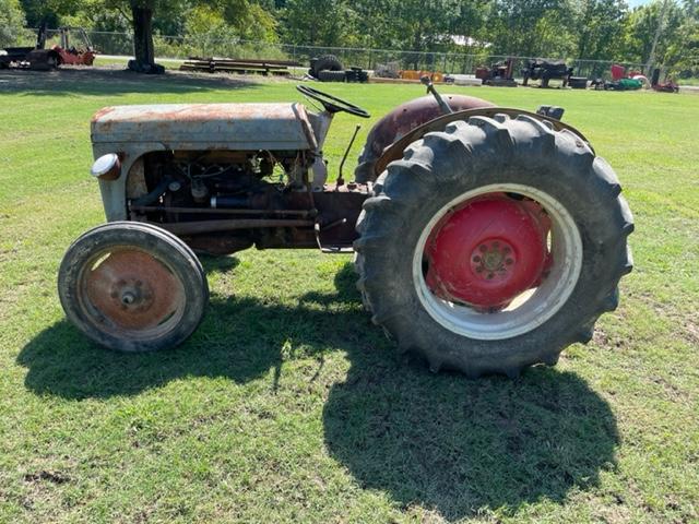
[[[322,88],[372,121],[424,94]],[[564,106],[624,184],[636,269],[555,368],[470,381],[399,358],[351,258],[312,250],[204,259],[211,306],[186,344],[96,347],[56,294],[66,248],[104,221],[91,116],[301,97],[286,81],[0,72],[0,522],[699,521],[699,96],[442,91]],[[333,172],[356,122],[331,128]]]

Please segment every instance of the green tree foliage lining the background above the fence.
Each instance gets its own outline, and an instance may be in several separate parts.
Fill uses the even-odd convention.
[[[699,0],[635,9],[625,0],[0,0],[1,7],[0,38],[23,16],[29,26],[46,20],[133,27],[137,55],[139,38],[150,34],[137,26],[145,24],[156,35],[301,46],[464,52],[475,46],[493,55],[654,59],[699,74]],[[459,44],[464,40],[469,49]]]

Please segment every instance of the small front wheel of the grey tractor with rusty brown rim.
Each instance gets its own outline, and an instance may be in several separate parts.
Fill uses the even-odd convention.
[[[58,294],[68,319],[96,343],[119,352],[181,344],[209,300],[206,276],[185,242],[135,222],[97,226],[63,257]]]

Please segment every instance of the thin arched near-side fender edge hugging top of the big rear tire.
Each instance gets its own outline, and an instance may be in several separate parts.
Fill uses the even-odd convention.
[[[514,109],[510,107],[476,107],[474,109],[465,109],[462,111],[452,112],[450,115],[439,116],[422,126],[418,126],[407,133],[400,136],[396,141],[388,145],[381,155],[372,163],[372,172],[370,174],[372,178],[368,180],[376,180],[376,178],[381,175],[387,168],[387,166],[393,162],[403,157],[403,152],[405,148],[415,142],[416,140],[422,139],[425,134],[434,132],[434,131],[443,131],[449,122],[453,122],[457,120],[465,120],[467,121],[471,117],[488,117],[493,118],[496,115],[508,115],[510,118],[517,118],[519,115],[525,115],[528,117],[535,118],[541,121],[550,122],[553,129],[555,131],[567,130],[573,133],[577,138],[583,141],[594,153],[590,141],[576,128],[572,126],[568,126],[567,123],[561,122],[560,120],[556,120],[555,118],[550,118],[544,115],[540,115],[536,112],[525,111],[522,109]],[[357,166],[359,169],[362,165]],[[356,172],[356,171],[355,171]]]

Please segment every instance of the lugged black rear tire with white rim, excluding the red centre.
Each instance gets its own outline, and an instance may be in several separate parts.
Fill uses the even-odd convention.
[[[443,300],[426,284],[423,250],[431,228],[487,191],[536,201],[553,223],[553,276],[544,273],[532,297],[510,312]],[[357,287],[372,321],[434,371],[517,377],[531,365],[554,365],[565,347],[591,340],[631,271],[633,223],[619,193],[612,168],[570,131],[529,116],[451,122],[408,146],[378,178],[357,223]]]

